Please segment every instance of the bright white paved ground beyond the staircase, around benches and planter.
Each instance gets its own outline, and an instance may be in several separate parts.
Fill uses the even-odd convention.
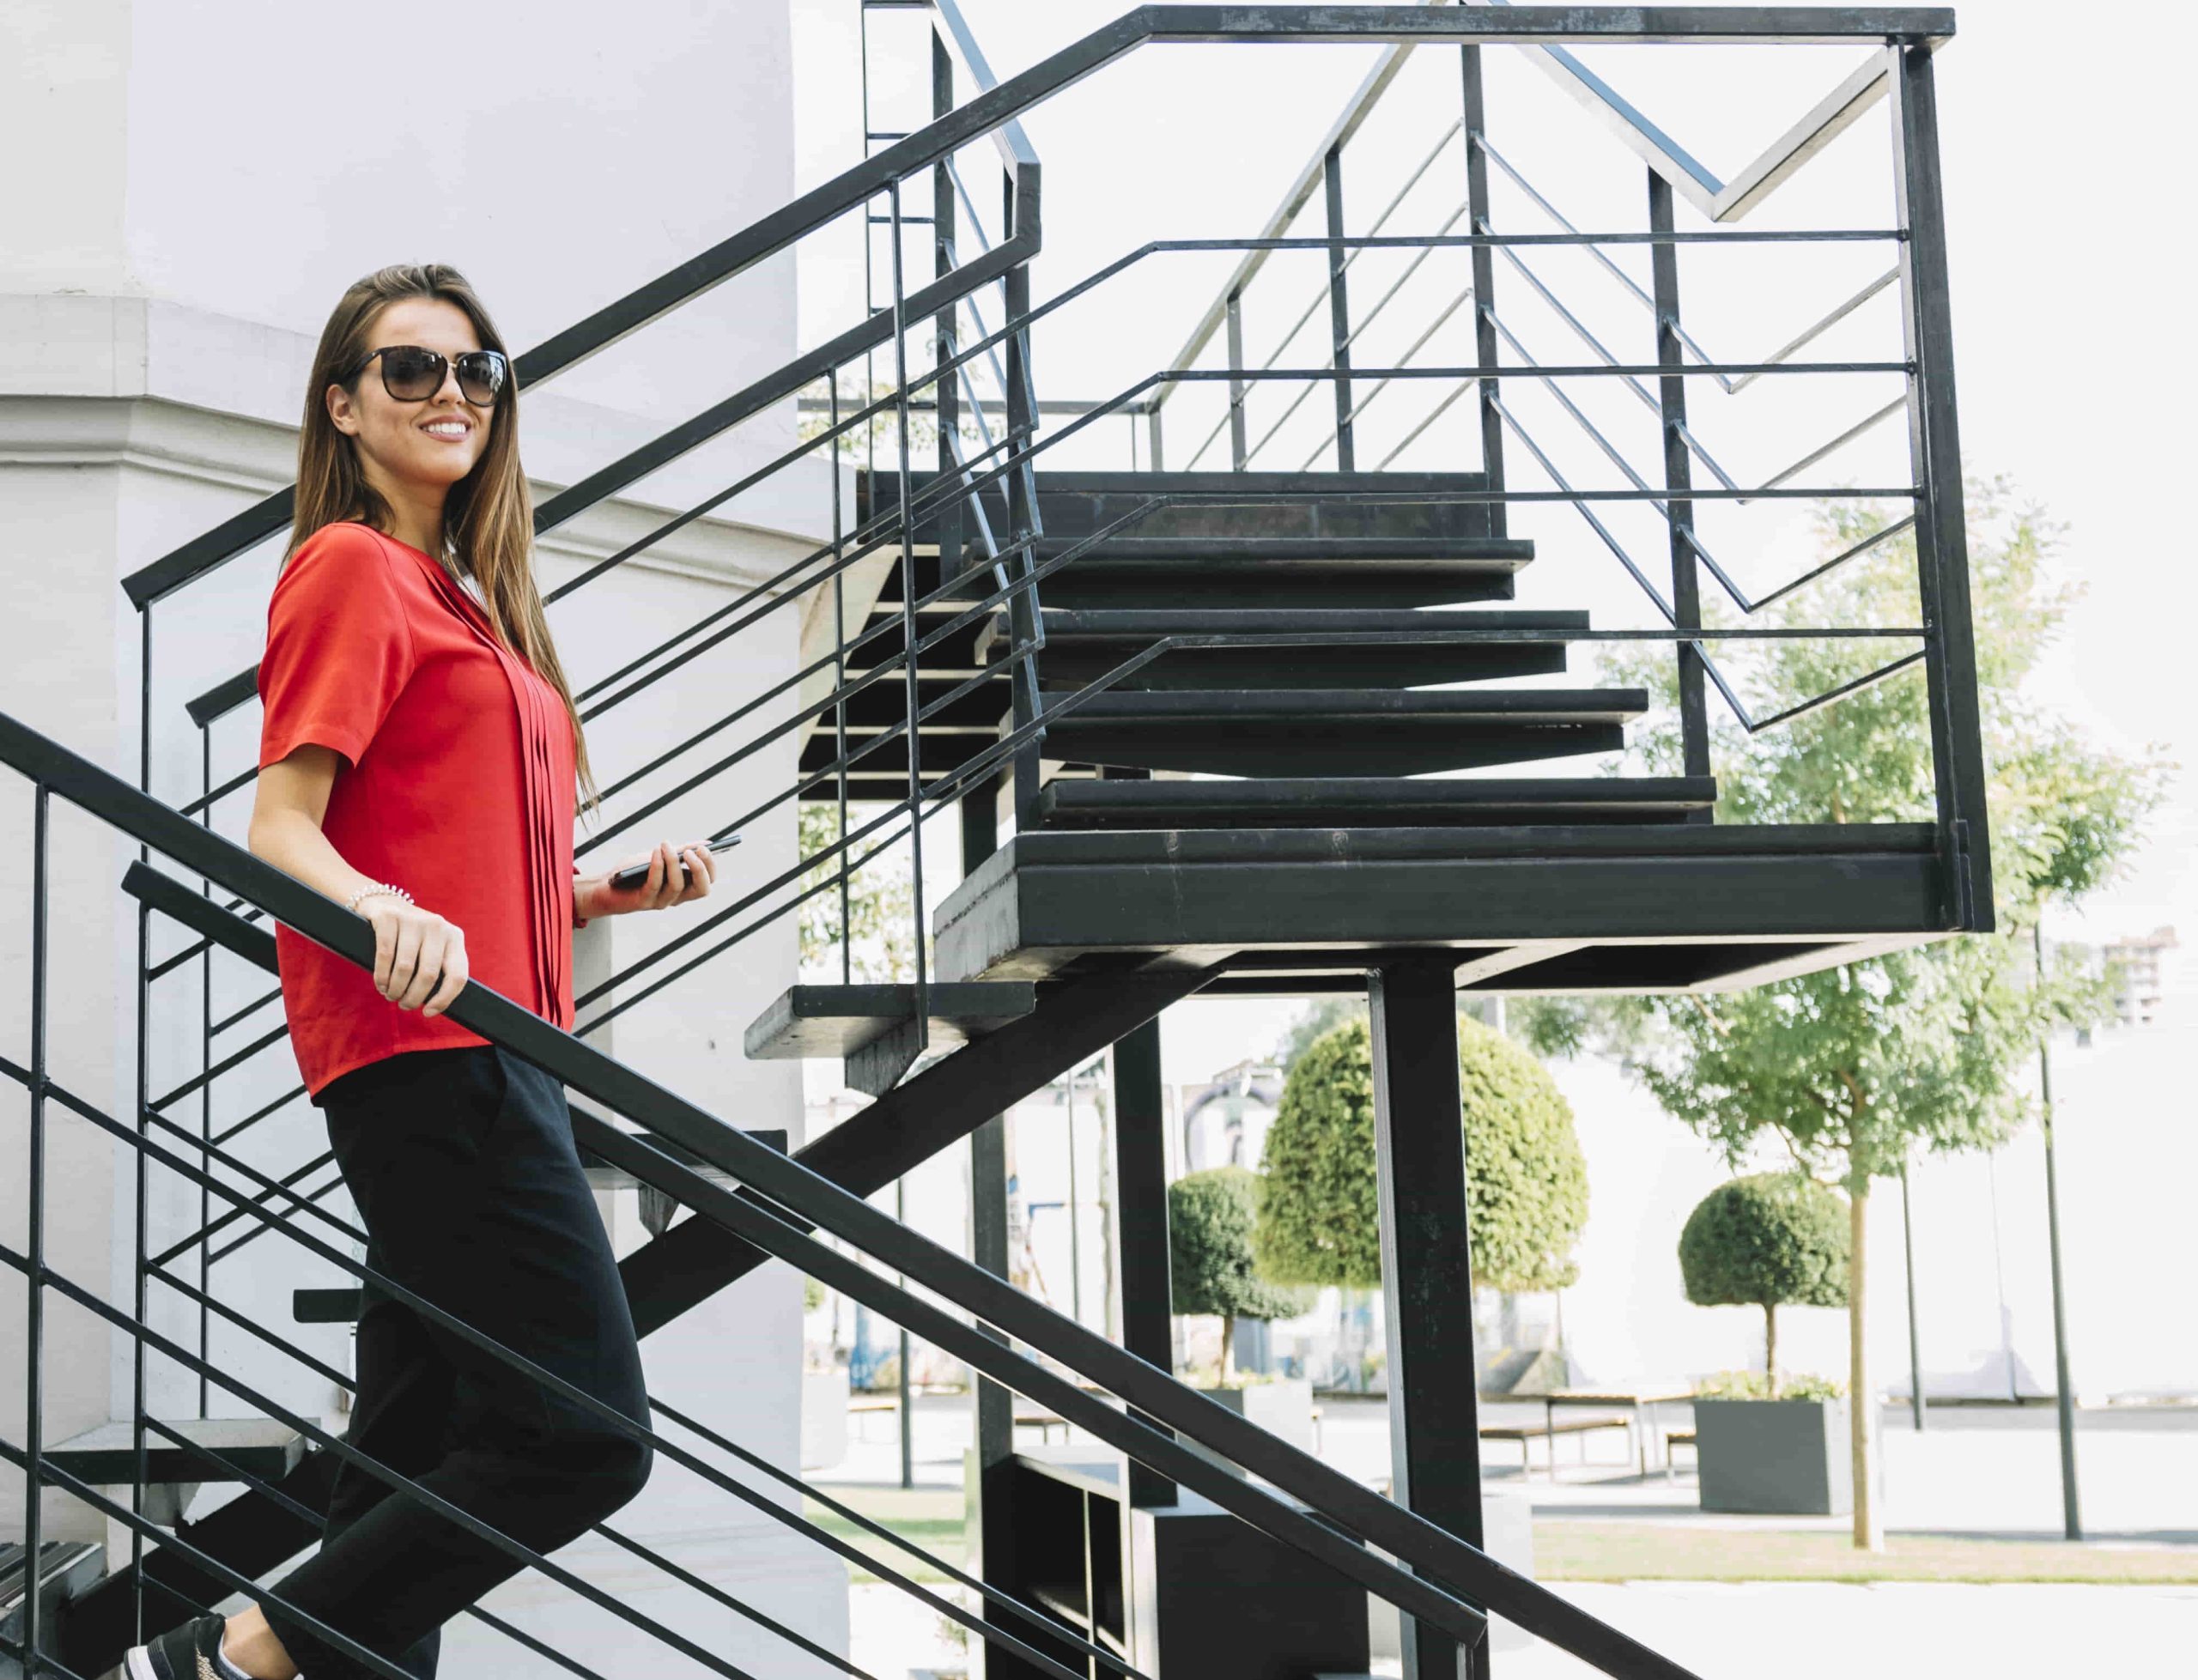
[[[1666,1423],[1681,1421],[1684,1414]],[[939,1396],[919,1403],[919,1484],[958,1484],[967,1427],[965,1401]],[[892,1418],[857,1418],[855,1436],[844,1465],[811,1475],[897,1482],[899,1436]],[[1321,1456],[1339,1469],[1380,1475],[1387,1438],[1378,1403],[1323,1403]],[[2051,1410],[1941,1410],[1921,1436],[1910,1429],[1903,1410],[1888,1410],[1884,1445],[1886,1519],[1895,1533],[2060,1537],[2060,1456]],[[1809,1519],[1796,1517],[1708,1517],[1695,1504],[1684,1454],[1675,1482],[1666,1482],[1662,1471],[1642,1478],[1616,1432],[1587,1440],[1585,1465],[1574,1462],[1576,1443],[1565,1443],[1554,1482],[1539,1449],[1530,1480],[1519,1478],[1514,1454],[1488,1447],[1488,1482],[1523,1489],[1541,1522],[1809,1526]],[[2198,1414],[2084,1414],[2077,1469],[2095,1544],[2198,1546]],[[1844,1526],[1838,1517],[1820,1522]],[[1561,1583],[1556,1590],[1701,1676],[2198,1676],[2198,1588],[1646,1581]],[[851,1614],[853,1658],[879,1680],[961,1665],[958,1649],[941,1636],[939,1618],[908,1607],[890,1588],[857,1588]],[[1541,1647],[1506,1649],[1499,1665],[1506,1680],[1589,1673]]]

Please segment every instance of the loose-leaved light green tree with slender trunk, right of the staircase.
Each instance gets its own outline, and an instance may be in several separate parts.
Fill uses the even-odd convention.
[[[1820,508],[1827,552],[1888,515]],[[1618,1001],[1539,1001],[1514,1012],[1545,1053],[1600,1049],[1732,1165],[1774,1143],[1798,1170],[1846,1192],[1849,1394],[1855,1432],[1855,1544],[1884,1546],[1870,1456],[1866,1278],[1870,1185],[1914,1152],[1989,1150],[2029,1117],[2029,1066],[2055,1020],[2095,1018],[2103,987],[2075,961],[2038,972],[2031,928],[2049,904],[2103,884],[2136,842],[2169,765],[2128,761],[2082,739],[2031,686],[2077,589],[2051,576],[2060,528],[2018,506],[2005,479],[1969,486],[1976,686],[1989,772],[1998,932],[1914,946],[1747,992]],[[1789,596],[1765,618],[1787,627],[1921,622],[1912,534]],[[1886,649],[1862,638],[1756,642],[1734,673],[1765,706],[1789,706],[1868,675]],[[1670,660],[1627,662],[1631,682],[1673,695]],[[1719,719],[1712,763],[1730,822],[1912,822],[1934,811],[1921,666],[1833,706],[1745,737]],[[1668,715],[1666,706],[1666,715]],[[1675,726],[1651,728],[1633,759],[1679,763]]]

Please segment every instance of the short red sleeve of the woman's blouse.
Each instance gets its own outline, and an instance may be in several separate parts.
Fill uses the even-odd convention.
[[[308,743],[356,765],[411,673],[411,625],[380,541],[349,521],[321,526],[268,603],[259,767]]]

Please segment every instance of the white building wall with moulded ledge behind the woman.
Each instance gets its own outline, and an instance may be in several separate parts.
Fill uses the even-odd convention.
[[[448,262],[488,303],[514,352],[571,325],[633,286],[725,240],[793,191],[791,70],[785,0],[690,7],[642,0],[607,26],[569,0],[440,9],[431,29],[398,15],[268,0],[136,4],[22,0],[0,9],[0,145],[35,158],[0,178],[0,710],[59,737],[127,781],[138,767],[141,620],[119,581],[295,475],[297,420],[328,310],[356,277],[387,262]],[[422,22],[429,15],[422,13]],[[523,457],[536,501],[723,400],[796,352],[793,264],[758,264],[523,394]],[[633,486],[547,534],[545,587],[602,559],[793,442],[791,405]],[[842,484],[851,497],[851,486]],[[831,528],[826,471],[804,462],[714,510],[648,559],[552,607],[552,629],[578,684],[692,622],[807,554]],[[200,737],[182,701],[248,666],[264,642],[266,596],[281,539],[160,603],[152,616],[154,792],[200,792]],[[589,728],[607,781],[725,715],[796,668],[798,605],[690,664],[659,693]],[[780,712],[782,715],[782,712]],[[745,719],[721,745],[774,721]],[[257,704],[211,734],[215,781],[251,765]],[[600,855],[655,838],[686,840],[761,805],[791,781],[778,743],[734,776],[684,796]],[[0,847],[13,877],[29,858],[31,800],[0,787]],[[668,787],[657,778],[635,796]],[[611,814],[631,809],[613,803]],[[242,840],[248,794],[215,809]],[[580,838],[591,833],[582,827]],[[703,910],[602,921],[580,935],[578,974],[629,965],[703,915],[793,862],[793,816],[747,825],[721,899]],[[134,1108],[136,917],[116,882],[134,847],[55,807],[55,946],[51,1055],[55,1075],[106,1113]],[[745,926],[754,913],[728,924]],[[156,954],[185,943],[156,924]],[[703,941],[706,946],[708,941]],[[684,952],[684,957],[695,954]],[[796,1064],[750,1064],[739,1034],[793,979],[793,928],[780,924],[670,985],[598,1034],[613,1053],[732,1124],[785,1128],[802,1141]],[[670,965],[666,965],[670,968]],[[651,970],[657,979],[666,968]],[[270,976],[215,963],[160,983],[149,1018],[154,1095],[200,1066],[200,1009],[220,1018],[270,990]],[[0,902],[0,1053],[29,1058],[29,893]],[[598,1005],[600,1007],[600,1005]],[[582,1020],[589,1009],[582,1009]],[[279,1025],[264,1007],[218,1040],[215,1055]],[[213,1097],[222,1126],[295,1084],[277,1042],[226,1075]],[[198,1128],[196,1097],[174,1106]],[[22,1247],[26,1104],[0,1082],[0,1240]],[[130,1302],[134,1176],[127,1152],[48,1106],[48,1258],[66,1275]],[[235,1139],[237,1154],[290,1172],[325,1150],[319,1113],[297,1102]],[[323,1168],[308,1183],[330,1176]],[[152,1240],[187,1231],[200,1192],[156,1174]],[[341,1190],[328,1201],[349,1214]],[[633,1192],[604,1198],[620,1251],[646,1238]],[[301,1225],[301,1229],[312,1229]],[[341,1247],[341,1245],[338,1245]],[[198,1275],[187,1264],[185,1278]],[[215,1293],[248,1319],[295,1335],[343,1368],[343,1326],[295,1326],[290,1291],[343,1282],[286,1236],[215,1264]],[[154,1291],[154,1324],[196,1346],[198,1313]],[[0,1289],[0,1434],[22,1440],[24,1304]],[[130,1414],[127,1339],[90,1315],[48,1304],[48,1443]],[[213,1359],[281,1405],[336,1421],[336,1388],[215,1324]],[[644,1346],[651,1388],[703,1423],[796,1465],[800,1300],[785,1267],[767,1267]],[[196,1414],[198,1381],[152,1361],[152,1410]],[[218,1388],[213,1414],[253,1407]],[[712,1462],[719,1458],[710,1454]],[[767,1517],[688,1471],[662,1471],[622,1524],[734,1596],[844,1649],[844,1568],[787,1541]],[[747,1475],[745,1480],[754,1480]],[[222,1497],[213,1491],[204,1497]],[[81,1533],[127,1548],[119,1528],[48,1497],[48,1535]],[[0,1533],[20,1533],[22,1482],[0,1478]],[[576,1548],[576,1566],[620,1599],[677,1618],[756,1673],[809,1673],[809,1658],[771,1656],[776,1640],[739,1632],[708,1601],[686,1605],[651,1585],[631,1555]],[[602,1612],[556,1610],[514,1583],[512,1614],[569,1629],[574,1656],[629,1671],[637,1638]],[[675,1596],[681,1607],[675,1610]],[[501,1601],[499,1601],[501,1607]],[[497,1673],[521,1673],[508,1643],[473,1627],[453,1638]],[[455,1647],[453,1647],[455,1649]],[[774,1667],[776,1662],[776,1667]]]

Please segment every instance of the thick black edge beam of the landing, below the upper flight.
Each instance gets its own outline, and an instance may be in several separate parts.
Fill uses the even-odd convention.
[[[1653,836],[1618,825],[1015,836],[941,906],[939,954],[956,974],[1051,979],[1108,952],[1332,946],[1341,957],[1411,941],[1831,943],[1943,932],[1928,827],[1831,827],[1846,836],[1686,822],[1655,825]],[[1697,838],[1701,847],[1673,844]],[[1827,952],[1824,963],[1835,961]]]

